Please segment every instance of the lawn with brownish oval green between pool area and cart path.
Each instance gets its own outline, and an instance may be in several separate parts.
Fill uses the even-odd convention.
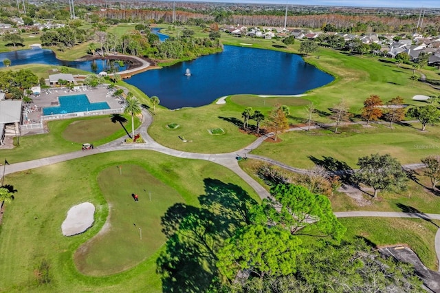
[[[126,118],[125,128],[131,129],[131,118]],[[135,119],[135,128],[139,125],[139,119]],[[126,134],[119,123],[111,122],[110,116],[50,121],[48,127],[49,133],[23,136],[20,138],[19,146],[14,149],[2,149],[0,155],[7,158],[11,164],[25,162],[79,151],[84,142],[98,146]]]

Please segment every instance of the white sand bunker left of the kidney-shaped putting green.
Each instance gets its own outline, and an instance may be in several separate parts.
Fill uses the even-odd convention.
[[[94,224],[95,206],[89,202],[83,202],[72,206],[67,212],[67,217],[61,225],[64,236],[80,234]]]

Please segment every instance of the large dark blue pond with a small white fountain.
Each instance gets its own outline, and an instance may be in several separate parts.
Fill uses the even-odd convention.
[[[192,76],[184,75],[187,68]],[[219,54],[149,70],[125,81],[176,109],[207,105],[231,94],[303,94],[333,79],[295,54],[225,45]]]

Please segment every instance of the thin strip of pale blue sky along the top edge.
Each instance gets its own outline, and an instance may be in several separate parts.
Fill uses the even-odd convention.
[[[184,1],[184,0],[178,0]],[[440,8],[440,0],[192,0],[203,2],[229,2],[229,3],[274,3],[322,6],[363,6],[363,7],[406,7],[406,8]]]

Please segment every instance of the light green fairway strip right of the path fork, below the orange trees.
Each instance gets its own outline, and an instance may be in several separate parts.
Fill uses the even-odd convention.
[[[419,124],[393,127],[390,129],[380,124],[373,124],[372,127],[351,125],[338,129],[340,133],[333,133],[333,128],[290,131],[279,135],[281,142],[264,142],[252,153],[299,168],[312,168],[314,158],[322,160],[324,157],[355,168],[358,158],[371,153],[389,153],[401,164],[410,164],[439,152],[438,127],[427,127],[427,131],[420,131]]]

